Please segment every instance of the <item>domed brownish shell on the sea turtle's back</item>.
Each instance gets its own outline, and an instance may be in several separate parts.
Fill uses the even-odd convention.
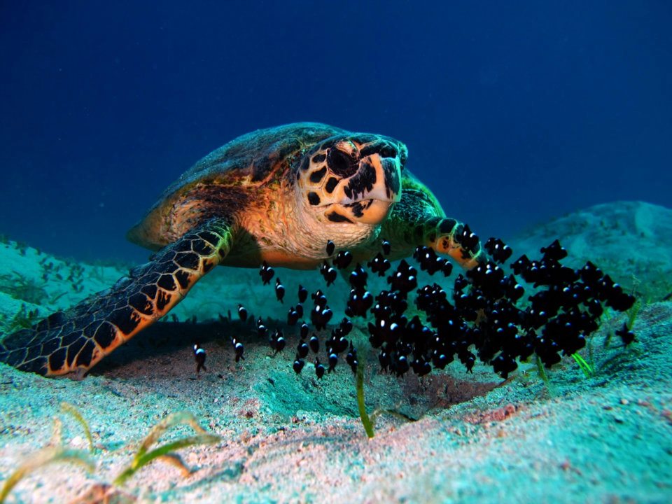
[[[239,211],[246,188],[260,186],[272,179],[288,157],[300,153],[323,139],[346,133],[320,123],[293,123],[244,134],[212,151],[184,172],[169,186],[159,200],[127,233],[127,238],[141,246],[158,249],[174,241],[166,216],[186,199],[197,200],[213,186],[235,187],[221,200],[218,214]],[[239,197],[237,197],[237,195]],[[230,205],[232,208],[228,208]]]

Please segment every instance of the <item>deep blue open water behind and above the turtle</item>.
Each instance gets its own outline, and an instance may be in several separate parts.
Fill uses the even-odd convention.
[[[483,236],[672,207],[668,0],[155,3],[0,3],[0,233],[145,258],[125,231],[181,172],[297,120],[405,141]]]

